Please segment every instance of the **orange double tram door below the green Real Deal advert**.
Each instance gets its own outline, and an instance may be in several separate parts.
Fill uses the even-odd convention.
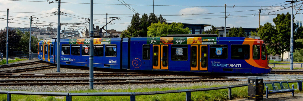
[[[153,69],[168,69],[168,45],[153,45]]]

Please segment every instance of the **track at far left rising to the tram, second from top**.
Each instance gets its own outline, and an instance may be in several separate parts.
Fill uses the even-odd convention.
[[[42,70],[42,69],[50,69],[55,68],[56,66],[47,65],[47,66],[39,66],[39,67],[31,67],[31,68],[24,68],[24,69],[11,69],[11,70],[2,70],[0,73],[18,73],[18,72],[28,72],[28,71],[35,71],[35,70]]]

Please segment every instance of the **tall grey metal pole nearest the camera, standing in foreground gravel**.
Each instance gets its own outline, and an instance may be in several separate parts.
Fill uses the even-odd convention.
[[[94,0],[91,0],[91,21],[89,30],[89,89],[94,89],[94,29],[93,29]],[[107,19],[106,19],[107,20]]]

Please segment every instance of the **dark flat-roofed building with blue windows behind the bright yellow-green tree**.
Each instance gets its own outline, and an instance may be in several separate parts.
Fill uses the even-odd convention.
[[[171,24],[171,23],[167,22],[167,24]],[[182,23],[182,24],[184,25],[183,26],[184,29],[188,27],[190,31],[188,34],[201,34],[202,32],[204,32],[204,27],[211,26],[207,24],[189,24],[189,23]]]

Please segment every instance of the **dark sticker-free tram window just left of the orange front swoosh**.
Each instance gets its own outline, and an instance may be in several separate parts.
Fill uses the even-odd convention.
[[[231,45],[231,59],[249,59],[249,45]]]

